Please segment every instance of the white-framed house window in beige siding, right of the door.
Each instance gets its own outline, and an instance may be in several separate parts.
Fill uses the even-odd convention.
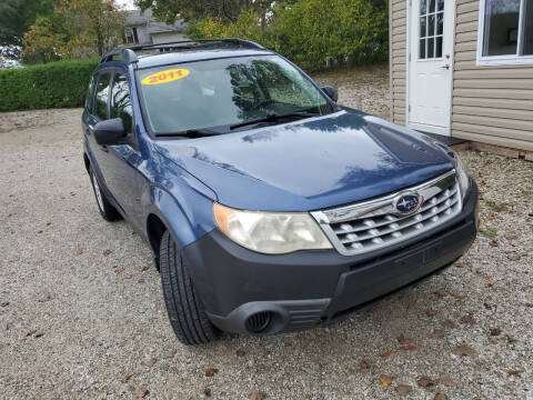
[[[480,0],[477,64],[533,64],[533,0]]]

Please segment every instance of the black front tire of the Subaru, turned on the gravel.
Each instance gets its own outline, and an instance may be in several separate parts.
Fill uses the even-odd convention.
[[[160,247],[164,303],[175,336],[183,344],[204,344],[217,339],[218,330],[208,319],[191,277],[169,231]]]

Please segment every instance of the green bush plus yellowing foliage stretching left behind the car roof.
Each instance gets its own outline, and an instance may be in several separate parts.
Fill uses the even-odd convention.
[[[208,17],[190,34],[247,38],[275,49],[309,71],[384,61],[389,20],[384,0],[300,0],[276,2],[268,23],[252,9],[235,22]]]

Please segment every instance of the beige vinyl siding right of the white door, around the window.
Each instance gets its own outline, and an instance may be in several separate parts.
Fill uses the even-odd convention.
[[[452,137],[533,150],[533,67],[477,67],[479,0],[457,0]]]

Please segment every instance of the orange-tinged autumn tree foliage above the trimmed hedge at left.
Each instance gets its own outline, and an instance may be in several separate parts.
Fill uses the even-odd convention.
[[[53,18],[38,19],[24,36],[27,62],[87,59],[121,42],[125,14],[114,0],[54,0],[54,7]]]

